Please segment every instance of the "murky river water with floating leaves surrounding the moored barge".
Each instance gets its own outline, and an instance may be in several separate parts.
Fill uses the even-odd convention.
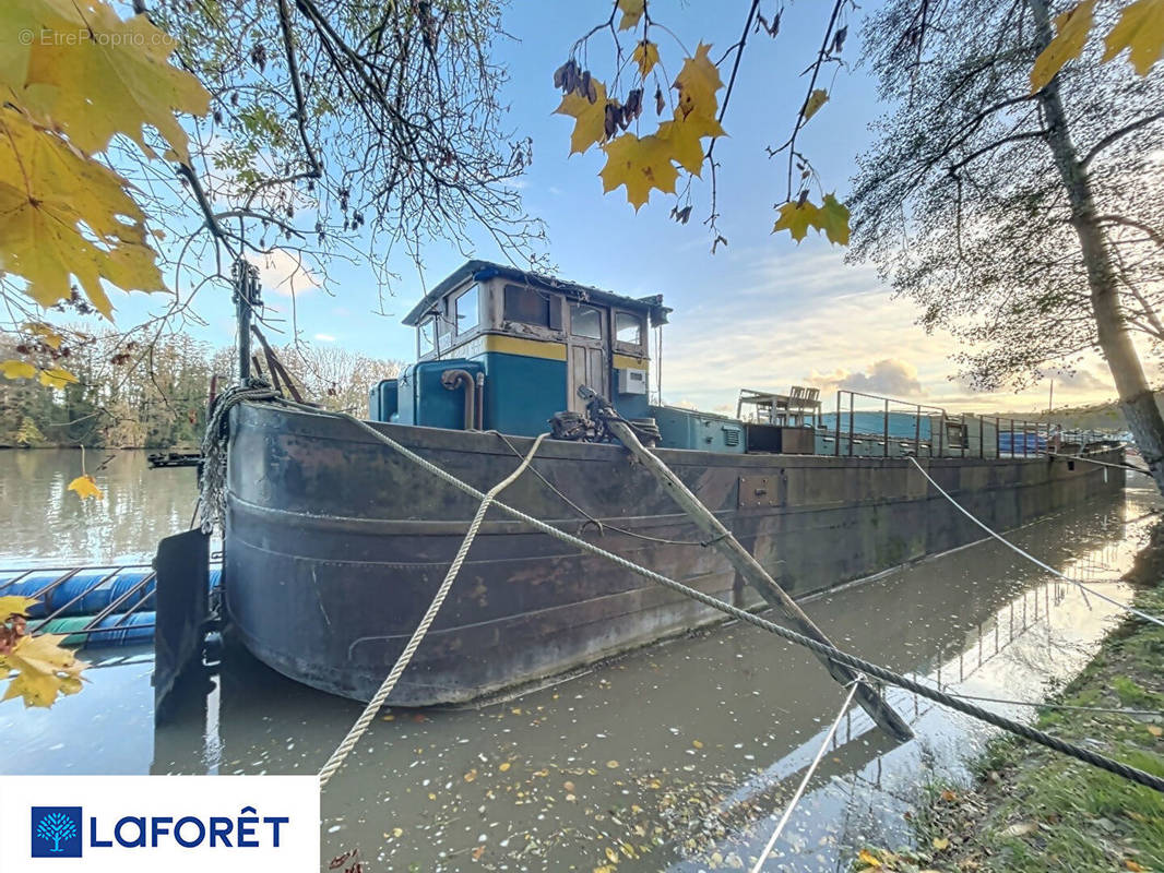
[[[107,503],[78,509],[63,492],[78,461],[0,453],[3,520],[26,538],[5,544],[8,565],[147,556],[154,538],[189,524],[190,470],[147,473],[136,453],[118,453],[98,476]],[[1108,580],[1130,567],[1161,503],[1131,476],[1122,497],[1012,539],[1074,579]],[[1130,597],[1120,583],[1095,584]],[[1072,676],[1116,618],[1114,606],[1085,602],[993,541],[805,609],[871,660],[963,694],[1022,701]],[[52,710],[0,704],[0,773],[312,773],[360,711],[227,646],[205,693],[155,728],[150,652],[87,656],[90,684]],[[325,858],[357,847],[369,871],[750,866],[843,698],[811,655],[730,624],[488,707],[385,711],[324,793]],[[966,757],[992,736],[925,701],[889,698],[917,738],[894,745],[851,710],[766,870],[847,870],[866,840],[907,840],[920,776],[964,776]]]

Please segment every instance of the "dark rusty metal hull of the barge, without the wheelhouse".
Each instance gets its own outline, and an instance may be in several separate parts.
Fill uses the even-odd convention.
[[[267,404],[232,411],[225,602],[260,660],[356,700],[379,687],[428,606],[476,502],[350,423]],[[374,424],[481,490],[519,459],[492,433]],[[518,452],[528,438],[508,438]],[[1123,449],[1096,452],[1119,462]],[[907,459],[659,449],[794,596],[981,539]],[[930,459],[995,530],[1123,487],[1048,459]],[[651,475],[615,445],[545,441],[502,499],[724,601],[757,606]],[[630,532],[630,533],[627,533]],[[638,535],[632,535],[638,534]],[[390,703],[455,703],[714,623],[722,613],[491,510]]]

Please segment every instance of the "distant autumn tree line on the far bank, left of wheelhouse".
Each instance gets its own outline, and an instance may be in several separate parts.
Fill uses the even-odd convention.
[[[0,360],[21,340],[0,334]],[[304,399],[329,410],[368,413],[368,390],[400,364],[306,342],[276,349]],[[70,348],[77,382],[61,389],[0,378],[0,447],[194,447],[206,426],[211,377],[221,390],[234,375],[230,348],[170,334],[146,346],[123,334],[87,335]],[[264,367],[265,370],[265,367]]]

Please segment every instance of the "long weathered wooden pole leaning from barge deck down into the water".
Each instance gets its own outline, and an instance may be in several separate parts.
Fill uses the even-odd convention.
[[[812,619],[804,613],[796,601],[789,597],[788,592],[768,575],[768,572],[764,569],[760,562],[732,537],[731,531],[724,527],[723,523],[716,518],[711,510],[704,506],[700,502],[700,498],[691,494],[690,489],[683,484],[682,480],[667,464],[655,457],[654,454],[639,442],[639,438],[634,435],[634,431],[619,418],[618,413],[610,406],[609,400],[585,385],[579,386],[579,397],[597,405],[596,412],[605,420],[610,432],[619,439],[639,463],[650,470],[651,475],[662,485],[663,490],[672,496],[675,503],[683,509],[695,525],[709,538],[711,545],[723,553],[731,566],[736,568],[736,572],[752,588],[759,591],[764,599],[773,606],[779,606],[785,616],[805,637],[811,637],[826,646],[833,645],[824,636],[824,632],[812,623]],[[900,743],[913,738],[914,732],[909,729],[906,721],[871,686],[860,681],[860,676],[856,670],[830,660],[826,655],[817,655],[817,658],[824,665],[825,669],[829,670],[829,674],[840,684],[847,686],[854,681],[859,682],[857,687],[857,701],[868,712],[870,718],[873,719],[878,728]]]

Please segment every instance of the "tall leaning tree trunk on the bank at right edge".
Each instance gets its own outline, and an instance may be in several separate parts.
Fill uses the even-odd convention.
[[[1051,16],[1046,0],[1028,0],[1035,15],[1038,48],[1046,48],[1051,41]],[[1095,220],[1095,201],[1092,197],[1087,171],[1076,154],[1071,132],[1067,129],[1066,113],[1059,99],[1058,77],[1043,88],[1038,97],[1046,119],[1046,141],[1055,156],[1059,178],[1071,203],[1071,223],[1079,236],[1079,246],[1087,269],[1091,289],[1092,314],[1099,335],[1099,347],[1115,379],[1128,428],[1143,453],[1144,461],[1164,492],[1164,418],[1161,417],[1156,397],[1144,376],[1136,347],[1131,343],[1128,327],[1120,306],[1115,269],[1103,237],[1103,229]]]

